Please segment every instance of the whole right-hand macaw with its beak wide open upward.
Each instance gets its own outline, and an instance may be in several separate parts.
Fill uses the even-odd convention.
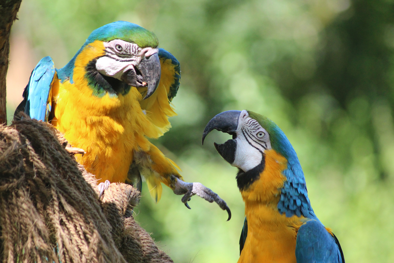
[[[310,205],[301,165],[286,135],[270,119],[229,110],[206,125],[232,135],[217,152],[238,167],[245,202],[238,263],[345,263],[338,239]]]

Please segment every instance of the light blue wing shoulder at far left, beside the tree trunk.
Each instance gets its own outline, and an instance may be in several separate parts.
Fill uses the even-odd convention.
[[[30,118],[48,121],[47,102],[56,69],[52,58],[46,56],[33,69],[26,90],[24,111]]]

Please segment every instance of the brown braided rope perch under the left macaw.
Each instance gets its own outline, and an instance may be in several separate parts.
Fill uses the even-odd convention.
[[[139,226],[139,192],[95,177],[47,123],[0,125],[0,259],[11,262],[173,262]]]

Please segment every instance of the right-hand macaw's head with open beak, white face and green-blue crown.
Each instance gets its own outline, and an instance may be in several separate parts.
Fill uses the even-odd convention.
[[[214,145],[223,159],[243,172],[260,166],[264,152],[270,149],[280,153],[288,162],[298,162],[296,152],[282,130],[273,121],[255,112],[229,110],[217,114],[204,129],[203,143],[206,135],[214,129],[232,135],[227,142]]]

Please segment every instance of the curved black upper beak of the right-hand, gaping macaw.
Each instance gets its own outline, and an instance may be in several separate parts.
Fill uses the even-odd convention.
[[[205,137],[214,129],[235,135],[238,128],[240,115],[241,111],[239,110],[227,110],[226,112],[219,113],[214,118],[212,118],[204,129],[203,145]]]

